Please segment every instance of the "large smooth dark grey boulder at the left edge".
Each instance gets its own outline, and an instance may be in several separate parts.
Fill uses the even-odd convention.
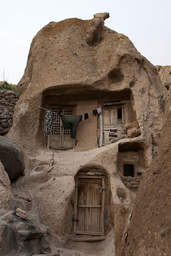
[[[0,136],[0,159],[9,178],[17,178],[25,169],[24,155],[13,141]]]

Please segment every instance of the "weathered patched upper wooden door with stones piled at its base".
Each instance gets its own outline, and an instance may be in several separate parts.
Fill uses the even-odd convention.
[[[111,139],[118,138],[123,125],[126,124],[125,106],[102,107],[99,119],[99,146],[109,144]]]

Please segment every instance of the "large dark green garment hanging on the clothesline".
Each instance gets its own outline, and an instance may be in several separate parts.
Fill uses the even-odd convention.
[[[65,116],[60,115],[63,127],[65,130],[71,130],[71,138],[75,138],[76,130],[79,122],[82,122],[83,115],[80,116]]]

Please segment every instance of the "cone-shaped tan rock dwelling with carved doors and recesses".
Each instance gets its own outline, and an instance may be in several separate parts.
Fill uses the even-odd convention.
[[[50,22],[33,38],[7,133],[26,169],[10,178],[15,203],[6,209],[23,209],[36,239],[47,243],[35,242],[27,256],[47,249],[60,256],[125,255],[137,193],[158,150],[164,86],[129,38],[104,26],[107,18]],[[93,115],[97,107],[101,113]],[[48,137],[45,109],[53,110]],[[59,110],[88,113],[75,138]]]

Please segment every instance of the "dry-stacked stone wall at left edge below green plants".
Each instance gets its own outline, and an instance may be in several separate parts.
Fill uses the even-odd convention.
[[[16,92],[0,90],[0,134],[8,132],[11,128],[14,107],[19,97]]]

